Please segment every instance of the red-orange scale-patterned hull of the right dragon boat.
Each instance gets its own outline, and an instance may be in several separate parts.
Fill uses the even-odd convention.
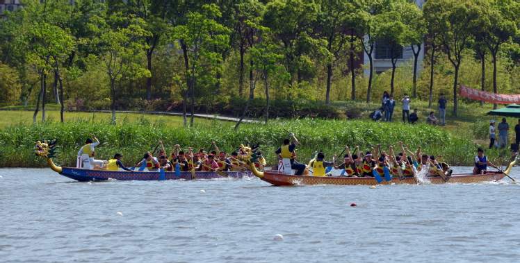
[[[453,174],[448,183],[481,183],[486,181],[498,181],[504,178],[503,173],[486,173],[482,175],[473,174]],[[289,176],[282,173],[263,173],[262,180],[273,185],[415,185],[416,182],[413,177],[407,177],[405,180],[399,178],[392,178],[391,181],[383,181],[377,183],[373,177],[341,177],[341,176]],[[432,184],[444,184],[441,177],[426,178]]]

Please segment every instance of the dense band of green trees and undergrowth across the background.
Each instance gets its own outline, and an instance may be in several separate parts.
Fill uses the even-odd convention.
[[[449,92],[456,115],[458,83],[518,93],[517,1],[411,2],[26,0],[0,22],[1,67],[13,83],[0,84],[10,98],[0,103],[81,100],[115,110],[138,98],[180,99],[179,110],[197,112],[231,101],[222,96],[266,98],[241,108],[260,116],[271,112],[269,98],[378,101],[389,90],[430,101]],[[377,42],[389,49],[388,73],[374,74]],[[414,58],[398,67],[405,49]],[[356,69],[364,53],[371,59]]]

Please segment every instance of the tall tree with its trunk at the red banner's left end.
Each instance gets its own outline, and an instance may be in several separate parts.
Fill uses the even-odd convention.
[[[481,26],[483,7],[477,6],[472,1],[460,3],[455,0],[428,1],[432,6],[437,6],[434,15],[439,16],[439,40],[444,46],[448,60],[455,69],[453,80],[453,115],[457,116],[457,88],[462,62],[462,51],[473,42],[473,32]]]

